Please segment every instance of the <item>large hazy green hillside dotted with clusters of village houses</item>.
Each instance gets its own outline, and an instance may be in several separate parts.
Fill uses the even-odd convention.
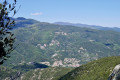
[[[12,57],[4,65],[46,62],[77,67],[91,60],[120,55],[120,33],[17,19]],[[20,26],[20,27],[18,27]],[[58,65],[56,65],[58,64]]]

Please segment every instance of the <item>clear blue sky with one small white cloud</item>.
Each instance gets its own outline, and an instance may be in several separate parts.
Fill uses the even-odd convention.
[[[120,27],[120,0],[17,0],[15,17]]]

